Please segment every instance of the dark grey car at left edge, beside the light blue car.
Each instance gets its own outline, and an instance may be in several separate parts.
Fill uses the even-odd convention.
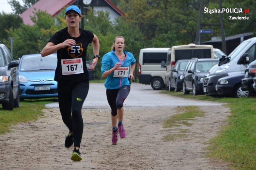
[[[19,62],[0,42],[0,103],[4,110],[20,106],[18,65]]]

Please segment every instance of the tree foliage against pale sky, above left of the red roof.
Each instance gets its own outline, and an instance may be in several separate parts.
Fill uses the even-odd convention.
[[[11,9],[14,11],[15,14],[21,14],[25,10],[29,9],[33,4],[35,4],[39,0],[23,0],[24,5],[21,5],[17,0],[10,0],[8,4],[11,5]]]

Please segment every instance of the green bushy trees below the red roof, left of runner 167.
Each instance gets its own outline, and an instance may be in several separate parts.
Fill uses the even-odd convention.
[[[15,59],[22,55],[40,53],[50,37],[60,29],[55,25],[54,19],[50,14],[38,10],[31,17],[34,25],[21,24],[20,28],[11,28],[7,31],[9,37],[14,37],[13,55]],[[10,42],[4,43],[9,47]]]

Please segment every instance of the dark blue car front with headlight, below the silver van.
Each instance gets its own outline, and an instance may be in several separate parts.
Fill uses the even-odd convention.
[[[230,76],[218,79],[215,86],[218,95],[221,97],[248,97],[250,95],[249,91],[242,90],[241,82],[244,76],[244,73],[233,73]]]

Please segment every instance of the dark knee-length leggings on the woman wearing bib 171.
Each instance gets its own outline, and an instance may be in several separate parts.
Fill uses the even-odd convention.
[[[125,85],[120,89],[107,89],[107,100],[108,104],[111,108],[111,115],[117,115],[117,109],[121,109],[123,107],[123,102],[130,93],[131,87],[129,85]]]

